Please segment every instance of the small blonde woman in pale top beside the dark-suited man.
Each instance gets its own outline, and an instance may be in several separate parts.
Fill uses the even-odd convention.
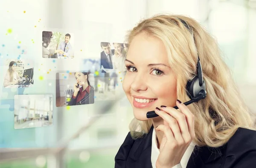
[[[125,49],[122,43],[113,43],[115,52],[113,55],[113,69],[125,72]]]

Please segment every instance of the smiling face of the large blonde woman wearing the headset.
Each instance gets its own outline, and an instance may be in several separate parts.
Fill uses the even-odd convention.
[[[137,35],[130,43],[125,66],[122,87],[136,119],[148,120],[146,113],[161,105],[175,106],[176,78],[160,39]]]

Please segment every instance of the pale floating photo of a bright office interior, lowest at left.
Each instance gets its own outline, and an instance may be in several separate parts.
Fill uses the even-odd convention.
[[[14,128],[52,125],[52,95],[15,95]]]

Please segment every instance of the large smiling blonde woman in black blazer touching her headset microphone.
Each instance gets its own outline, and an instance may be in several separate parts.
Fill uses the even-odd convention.
[[[256,131],[218,44],[199,23],[157,15],[128,34],[122,84],[134,119],[115,168],[252,168]],[[188,106],[201,61],[207,96]],[[177,108],[173,108],[177,106]],[[156,117],[147,118],[148,111]]]

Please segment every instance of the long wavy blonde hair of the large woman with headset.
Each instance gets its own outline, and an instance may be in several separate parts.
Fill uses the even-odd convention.
[[[169,64],[177,76],[177,99],[182,102],[190,100],[186,84],[196,75],[199,56],[207,97],[188,106],[195,116],[196,145],[219,147],[238,127],[255,129],[230,69],[221,58],[218,43],[197,21],[183,15],[156,15],[138,23],[128,33],[126,41],[131,43],[140,33],[157,37],[166,46]],[[139,121],[134,118],[129,125],[131,136],[140,138],[151,126],[152,119]]]

